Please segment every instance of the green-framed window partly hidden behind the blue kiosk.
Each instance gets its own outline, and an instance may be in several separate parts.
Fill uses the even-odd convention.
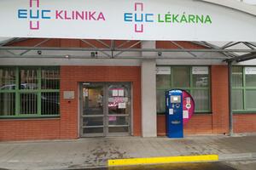
[[[207,113],[210,105],[210,77],[207,66],[159,66],[156,73],[157,113],[166,111],[166,91],[180,88],[195,99],[195,111]]]

